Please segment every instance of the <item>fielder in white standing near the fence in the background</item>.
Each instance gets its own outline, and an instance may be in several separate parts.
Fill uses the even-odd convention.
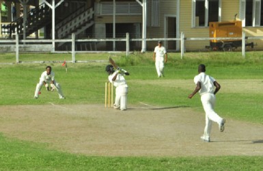
[[[157,76],[164,77],[163,68],[165,68],[165,63],[167,62],[167,51],[165,47],[162,46],[161,41],[158,41],[158,46],[154,48],[153,60],[155,62]]]

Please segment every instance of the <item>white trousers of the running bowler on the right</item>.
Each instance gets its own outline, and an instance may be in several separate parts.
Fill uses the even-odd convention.
[[[204,127],[204,137],[210,137],[212,121],[220,124],[222,118],[214,111],[216,97],[213,93],[206,93],[201,95],[202,105],[206,112],[206,127]]]

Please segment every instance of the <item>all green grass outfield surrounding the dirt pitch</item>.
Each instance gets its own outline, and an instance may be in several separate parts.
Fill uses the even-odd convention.
[[[79,54],[77,60],[107,60],[109,54]],[[62,57],[63,56],[63,57]],[[139,101],[150,105],[195,107],[202,111],[199,95],[193,92],[193,77],[198,64],[206,64],[207,74],[221,83],[216,111],[225,118],[263,124],[263,55],[241,53],[169,53],[165,77],[158,79],[152,53],[123,54],[113,59],[130,72],[128,103]],[[69,54],[23,54],[20,60],[71,60]],[[14,54],[1,54],[0,63],[14,62]],[[38,105],[104,103],[107,62],[68,63],[68,73],[59,63],[50,64],[63,88],[66,99],[42,89],[33,99],[36,83],[47,64],[0,64],[0,105]],[[150,94],[150,95],[149,95]],[[0,118],[1,124],[1,118]],[[249,136],[249,135],[248,135]],[[43,144],[32,144],[0,136],[0,170],[262,170],[263,157],[87,157],[49,150]],[[40,169],[41,168],[41,169]]]

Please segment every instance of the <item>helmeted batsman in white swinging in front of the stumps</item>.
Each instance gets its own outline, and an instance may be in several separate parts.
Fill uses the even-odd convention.
[[[117,68],[114,70],[112,65],[106,66],[106,71],[109,74],[109,81],[113,83],[115,89],[115,103],[113,105],[114,109],[127,109],[127,93],[128,93],[128,85],[124,78],[124,75],[129,75],[126,70],[122,70]]]

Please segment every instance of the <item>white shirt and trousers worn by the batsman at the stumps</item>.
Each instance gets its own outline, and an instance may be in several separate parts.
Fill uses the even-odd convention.
[[[128,85],[122,74],[118,74],[115,81],[112,81],[113,77],[117,74],[117,72],[118,70],[116,70],[113,74],[109,75],[108,77],[109,81],[113,83],[113,86],[116,88],[114,108],[126,110]]]

